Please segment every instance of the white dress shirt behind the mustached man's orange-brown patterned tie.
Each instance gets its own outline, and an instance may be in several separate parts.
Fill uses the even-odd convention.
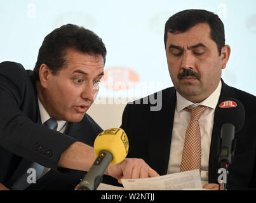
[[[184,108],[190,105],[192,105],[192,107],[204,105],[209,108],[203,112],[198,121],[201,132],[201,181],[202,185],[208,183],[208,162],[212,139],[213,119],[215,107],[217,106],[220,96],[221,86],[222,84],[220,81],[219,86],[215,89],[212,95],[208,96],[208,98],[200,103],[192,103],[177,92],[177,104],[175,107],[170,159],[167,171],[168,174],[180,172],[185,131],[187,126],[189,126],[191,119],[191,113],[184,110]]]

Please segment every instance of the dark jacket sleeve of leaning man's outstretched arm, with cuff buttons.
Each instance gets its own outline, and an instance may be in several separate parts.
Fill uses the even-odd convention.
[[[29,76],[19,63],[0,63],[0,146],[57,170],[60,155],[77,140],[33,122],[24,114],[21,107],[25,96],[35,95],[27,92],[31,91],[29,82]]]

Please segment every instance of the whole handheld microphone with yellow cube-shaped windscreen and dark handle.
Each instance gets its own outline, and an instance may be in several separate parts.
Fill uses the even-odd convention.
[[[84,175],[77,190],[96,190],[102,182],[107,166],[124,160],[128,150],[129,141],[123,129],[111,128],[98,134],[94,141],[97,158],[88,173]]]

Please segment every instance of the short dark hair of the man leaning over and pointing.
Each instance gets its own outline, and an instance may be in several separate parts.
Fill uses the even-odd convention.
[[[56,74],[67,63],[67,49],[74,49],[90,55],[102,55],[105,63],[107,49],[102,39],[84,27],[67,24],[53,30],[43,41],[34,67],[34,75],[39,81],[39,68],[44,63]]]

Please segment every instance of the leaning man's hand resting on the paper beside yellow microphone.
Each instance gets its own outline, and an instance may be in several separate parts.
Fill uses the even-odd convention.
[[[121,178],[151,178],[159,176],[143,159],[125,159],[119,164],[107,167],[105,174],[118,179],[121,183]]]

